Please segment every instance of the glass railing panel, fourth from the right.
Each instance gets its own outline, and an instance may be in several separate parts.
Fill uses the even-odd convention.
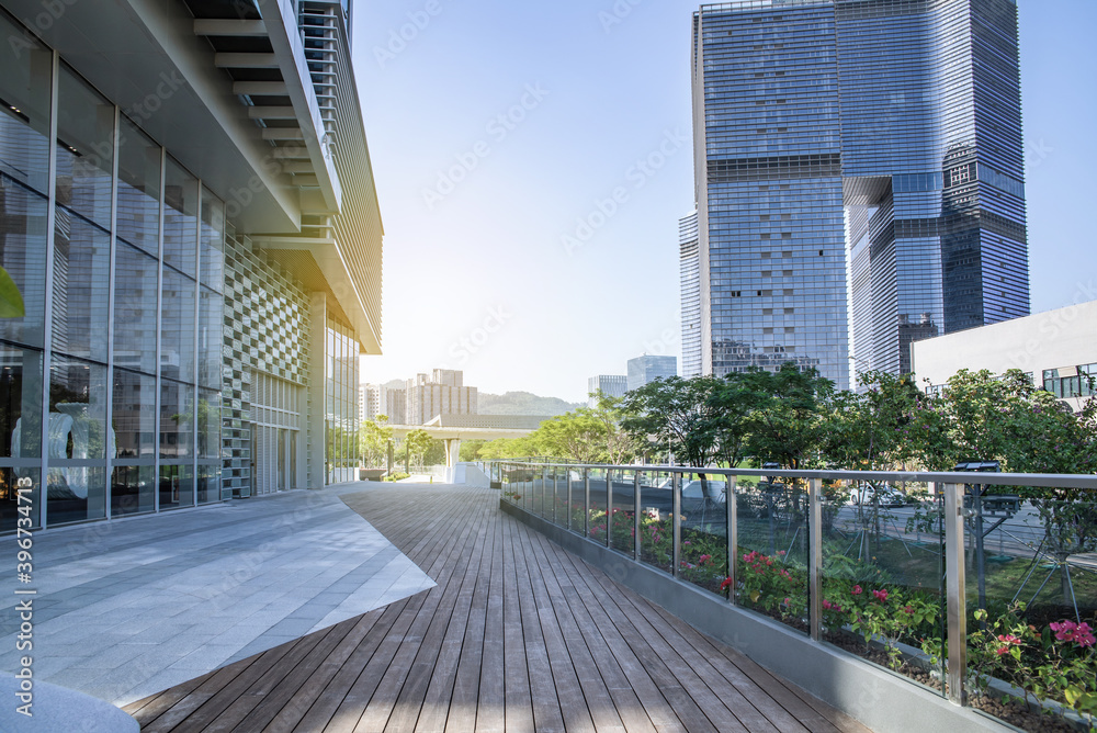
[[[685,474],[681,487],[678,577],[721,594],[721,585],[727,577],[727,477]]]

